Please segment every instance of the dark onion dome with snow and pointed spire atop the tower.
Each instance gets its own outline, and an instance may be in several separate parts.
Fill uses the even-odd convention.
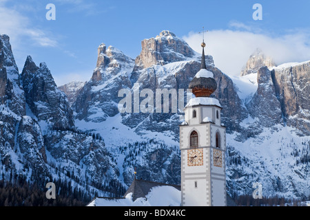
[[[189,89],[192,89],[196,97],[209,97],[216,91],[216,80],[212,72],[207,70],[205,65],[205,43],[201,44],[203,47],[203,56],[201,57],[200,70],[189,83]]]

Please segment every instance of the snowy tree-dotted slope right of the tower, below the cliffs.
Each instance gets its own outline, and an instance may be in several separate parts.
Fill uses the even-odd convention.
[[[245,125],[247,122],[245,121]],[[254,182],[265,197],[308,197],[310,136],[299,137],[289,126],[265,128],[245,142],[227,135],[227,187],[230,193],[251,195]]]

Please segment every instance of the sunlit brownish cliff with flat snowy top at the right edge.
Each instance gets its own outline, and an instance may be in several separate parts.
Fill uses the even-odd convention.
[[[280,65],[271,76],[287,125],[310,135],[310,61]]]

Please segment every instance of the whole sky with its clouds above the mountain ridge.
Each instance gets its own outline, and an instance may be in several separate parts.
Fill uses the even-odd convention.
[[[48,3],[56,21],[45,18]],[[261,21],[252,17],[254,3],[262,5]],[[31,55],[62,85],[90,79],[101,43],[136,58],[143,39],[170,30],[200,52],[204,26],[215,65],[238,76],[256,47],[277,64],[310,60],[309,8],[309,0],[0,0],[0,34],[10,36],[20,72]]]

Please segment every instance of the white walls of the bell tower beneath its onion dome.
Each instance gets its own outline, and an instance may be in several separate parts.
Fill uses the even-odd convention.
[[[226,129],[220,124],[220,110],[218,105],[185,107],[186,123],[180,126],[182,206],[226,206]],[[195,118],[193,111],[196,111]],[[203,162],[195,166],[189,163],[192,131],[198,133],[196,148],[203,153]],[[220,148],[216,148],[216,133],[219,134]]]

